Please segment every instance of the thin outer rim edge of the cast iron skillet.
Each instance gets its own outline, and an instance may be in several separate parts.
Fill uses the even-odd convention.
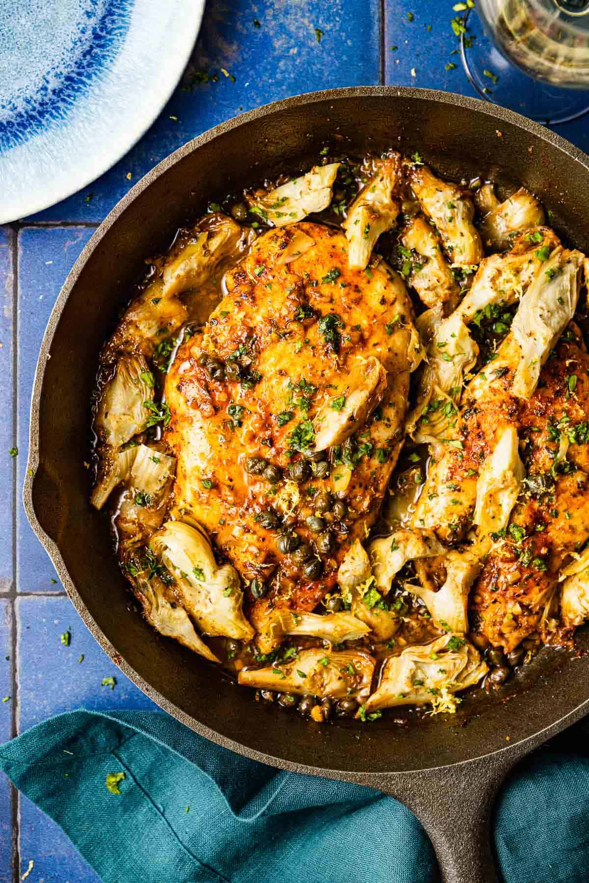
[[[64,585],[64,588],[70,600],[72,601],[72,604],[76,608],[84,624],[87,626],[87,629],[91,632],[94,639],[99,643],[99,645],[102,646],[102,649],[109,654],[109,657],[113,660],[117,660],[116,664],[118,668],[120,668],[121,671],[123,671],[123,673],[127,675],[127,677],[129,677],[130,680],[132,680],[132,682],[140,688],[141,691],[143,691],[149,698],[151,698],[156,703],[156,705],[160,706],[165,712],[170,713],[173,717],[175,717],[181,723],[185,724],[185,726],[187,726],[188,728],[199,733],[200,736],[205,736],[210,741],[223,746],[223,748],[227,748],[230,751],[235,751],[238,754],[241,754],[247,758],[257,760],[267,765],[276,766],[280,769],[286,769],[291,772],[313,775],[328,774],[332,778],[349,778],[354,779],[355,781],[362,781],[366,785],[374,784],[375,787],[378,787],[377,782],[382,782],[383,775],[386,775],[387,777],[395,777],[396,779],[399,779],[399,777],[401,777],[402,779],[403,777],[411,775],[412,773],[434,770],[442,771],[445,769],[449,769],[450,767],[477,763],[485,760],[486,758],[495,758],[496,762],[501,762],[500,758],[505,758],[507,755],[510,755],[511,758],[514,758],[516,755],[523,756],[525,753],[527,753],[527,751],[531,751],[532,748],[536,747],[536,745],[545,742],[551,736],[555,736],[561,730],[570,726],[570,724],[578,721],[581,717],[584,716],[585,713],[589,712],[589,696],[587,699],[585,699],[584,702],[580,703],[569,713],[564,714],[556,721],[551,721],[547,724],[546,727],[541,728],[531,736],[525,736],[517,742],[496,748],[494,751],[488,751],[486,754],[458,760],[452,764],[442,766],[416,766],[414,770],[389,771],[387,774],[377,772],[366,773],[355,771],[353,769],[336,770],[332,768],[322,769],[318,766],[306,766],[304,764],[298,764],[296,762],[287,760],[286,758],[278,758],[272,755],[265,754],[262,751],[258,751],[257,749],[253,749],[247,745],[237,743],[234,740],[223,736],[222,733],[218,733],[216,730],[211,729],[200,723],[200,721],[195,720],[191,715],[185,713],[174,703],[170,702],[170,699],[165,698],[159,691],[156,691],[134,668],[132,668],[131,665],[129,665],[129,663],[126,662],[125,659],[121,657],[121,654],[118,653],[117,648],[109,641],[108,638],[106,638],[102,630],[95,622],[94,617],[90,615],[86,604],[81,599],[76,586],[73,584],[72,578],[70,577],[69,572],[65,566],[64,559],[61,555],[59,547],[57,546],[57,543],[54,540],[51,540],[49,535],[43,530],[39,518],[34,511],[33,504],[34,476],[39,465],[40,451],[40,403],[42,397],[45,367],[50,355],[51,344],[53,343],[53,338],[57,330],[57,325],[61,319],[62,313],[64,312],[67,300],[70,297],[70,294],[72,293],[72,290],[74,289],[76,283],[78,282],[79,276],[83,273],[83,270],[87,264],[87,260],[89,260],[91,254],[94,253],[94,249],[101,242],[102,238],[107,234],[109,229],[117,223],[119,217],[123,215],[126,208],[128,208],[132,204],[132,202],[140,195],[140,193],[142,193],[150,185],[152,185],[152,183],[157,178],[165,175],[172,166],[176,165],[177,162],[183,160],[186,155],[190,155],[193,152],[197,151],[200,147],[207,144],[209,141],[214,140],[217,136],[222,135],[226,132],[231,132],[234,129],[238,129],[241,125],[249,124],[254,121],[259,121],[265,117],[270,117],[273,114],[285,109],[297,108],[316,102],[336,102],[340,99],[359,97],[361,98],[363,96],[380,96],[382,98],[388,98],[390,100],[394,100],[395,98],[404,98],[417,101],[434,101],[451,106],[462,107],[476,113],[485,114],[487,117],[493,117],[499,122],[506,122],[510,125],[517,126],[517,128],[524,130],[528,135],[532,135],[534,138],[546,141],[557,150],[562,151],[565,155],[570,156],[573,161],[579,162],[579,164],[585,168],[587,174],[589,175],[589,155],[586,155],[578,147],[575,147],[573,144],[571,144],[570,141],[564,139],[562,136],[556,134],[555,132],[551,132],[544,126],[538,123],[534,123],[532,120],[529,120],[521,114],[517,114],[512,110],[501,108],[487,102],[482,102],[479,99],[470,98],[456,93],[442,92],[436,89],[391,86],[364,86],[327,89],[319,92],[309,92],[305,94],[295,95],[290,98],[285,98],[281,101],[271,102],[269,104],[262,105],[259,108],[255,108],[253,110],[249,110],[243,114],[240,114],[238,117],[232,117],[229,120],[216,125],[212,129],[208,129],[208,131],[206,132],[202,132],[199,136],[197,136],[193,140],[186,142],[185,145],[183,145],[182,147],[178,147],[177,150],[175,150],[172,154],[167,156],[161,162],[157,163],[157,165],[155,165],[152,170],[148,171],[144,177],[140,178],[140,181],[138,181],[137,184],[135,184],[131,188],[131,190],[125,194],[122,200],[117,202],[117,205],[110,210],[106,218],[94,231],[94,234],[88,240],[87,245],[85,245],[82,249],[78,259],[75,261],[70,273],[65,279],[64,285],[59,292],[59,295],[57,296],[56,303],[53,306],[53,309],[49,316],[49,321],[47,324],[47,328],[45,329],[41,348],[39,351],[37,366],[35,368],[34,383],[31,394],[29,449],[26,462],[26,477],[23,485],[23,505],[26,512],[26,517],[28,518],[31,527],[34,530],[35,535],[37,536],[38,540],[41,541],[42,546],[48,553],[51,562],[53,562],[57,570],[57,574],[60,577],[62,584]]]

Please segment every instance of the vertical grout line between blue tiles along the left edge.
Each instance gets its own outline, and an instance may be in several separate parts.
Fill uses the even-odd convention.
[[[12,431],[13,438],[19,439],[19,408],[17,404],[18,367],[19,367],[19,232],[11,228],[11,260],[12,260]],[[18,457],[14,457],[12,472],[12,585],[9,592],[11,603],[11,738],[18,736],[19,682],[17,669],[17,507],[19,502],[19,470]],[[12,843],[12,879],[18,883],[20,879],[20,798],[19,791],[11,783],[11,843]]]

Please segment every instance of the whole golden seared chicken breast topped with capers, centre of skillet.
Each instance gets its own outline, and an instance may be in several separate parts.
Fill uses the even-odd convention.
[[[319,224],[269,230],[225,284],[166,380],[173,512],[270,586],[260,625],[272,607],[312,610],[374,523],[419,338],[401,276],[349,268],[344,235]]]

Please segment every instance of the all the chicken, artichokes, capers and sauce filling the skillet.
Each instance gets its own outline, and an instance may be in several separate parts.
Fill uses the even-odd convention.
[[[93,502],[148,621],[262,697],[451,712],[588,609],[585,259],[524,190],[319,163],[154,260]]]

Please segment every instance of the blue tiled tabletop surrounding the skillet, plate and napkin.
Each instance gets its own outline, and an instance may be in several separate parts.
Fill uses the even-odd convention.
[[[84,191],[26,222],[0,229],[0,698],[15,693],[0,703],[0,740],[82,705],[154,707],[94,642],[61,586],[51,583],[56,575],[20,503],[35,362],[57,293],[92,235],[91,226],[84,225],[100,223],[140,177],[186,140],[242,110],[291,94],[379,82],[473,95],[450,26],[456,14],[452,0],[209,0],[181,84],[132,151]],[[321,31],[321,42],[315,28]],[[208,82],[203,81],[207,76]],[[588,150],[587,118],[557,131]],[[15,443],[19,456],[13,461],[8,449]],[[18,633],[14,658],[12,616]],[[60,635],[68,627],[72,641],[64,646]],[[5,660],[6,655],[11,659]],[[101,686],[108,675],[117,678],[114,691]],[[16,883],[29,860],[34,861],[29,883],[96,883],[92,869],[55,823],[23,796],[19,825],[12,832],[10,799],[8,782],[0,779],[0,883]],[[19,844],[16,877],[11,871],[12,834]]]

